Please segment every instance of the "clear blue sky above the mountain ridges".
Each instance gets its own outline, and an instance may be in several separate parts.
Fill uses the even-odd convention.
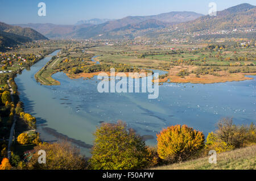
[[[39,2],[46,3],[46,16],[38,16]],[[75,24],[92,18],[119,19],[170,11],[207,14],[210,2],[217,4],[218,11],[241,3],[256,5],[256,0],[0,0],[0,22]]]

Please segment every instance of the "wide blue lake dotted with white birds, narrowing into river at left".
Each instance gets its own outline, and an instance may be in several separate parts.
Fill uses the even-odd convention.
[[[256,76],[249,76],[254,78],[249,81],[207,85],[164,83],[159,86],[158,99],[148,99],[148,93],[100,93],[97,77],[69,79],[61,72],[52,75],[60,86],[40,85],[34,74],[50,58],[15,78],[25,111],[36,117],[45,141],[57,140],[44,131],[48,127],[92,145],[92,133],[101,121],[125,121],[142,136],[154,137],[146,141],[148,145],[155,145],[156,133],[170,125],[187,124],[208,134],[222,117],[233,117],[236,124],[256,121]],[[88,148],[81,147],[81,151],[89,155]]]

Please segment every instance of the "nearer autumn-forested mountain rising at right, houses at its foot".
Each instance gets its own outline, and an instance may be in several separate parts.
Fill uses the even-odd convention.
[[[243,3],[241,5],[230,7],[229,9],[217,11],[216,16],[201,16],[189,22],[163,28],[160,31],[156,30],[154,32],[145,33],[143,36],[155,37],[156,39],[168,39],[168,37],[172,38],[179,35],[189,35],[189,33],[201,33],[208,35],[207,37],[210,38],[210,36],[214,36],[211,35],[213,32],[233,31],[238,28],[255,30],[255,19],[256,6]],[[237,34],[234,36],[247,37],[249,35],[246,35],[246,32],[240,32],[240,35]],[[228,35],[222,37],[228,37]],[[255,31],[250,32],[250,37],[254,39],[256,38]]]

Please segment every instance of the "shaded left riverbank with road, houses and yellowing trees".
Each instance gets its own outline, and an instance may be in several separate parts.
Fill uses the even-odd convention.
[[[52,50],[54,52],[55,50]],[[23,55],[19,55],[23,56]],[[26,56],[26,55],[25,55]],[[3,91],[9,91],[9,99],[5,101],[5,104],[1,103],[1,112],[0,112],[0,128],[1,128],[1,138],[3,138],[0,142],[0,146],[5,145],[6,153],[2,154],[2,157],[7,157],[11,159],[12,155],[18,155],[20,158],[23,157],[24,151],[31,150],[31,146],[35,146],[32,143],[36,133],[36,121],[35,117],[32,117],[28,112],[26,112],[26,117],[29,116],[29,120],[22,115],[24,115],[23,108],[27,108],[27,105],[23,106],[23,103],[20,102],[19,92],[22,91],[21,85],[16,85],[16,77],[19,77],[23,71],[30,71],[32,69],[32,65],[38,63],[40,60],[46,58],[46,54],[40,56],[41,58],[35,59],[32,62],[28,62],[28,64],[24,64],[24,67],[18,66],[10,66],[12,69],[11,73],[3,73],[2,75],[6,77],[5,87],[1,89],[0,95],[2,95]],[[16,62],[15,62],[16,64]],[[27,80],[26,80],[27,81]],[[8,90],[9,89],[9,90]],[[2,99],[3,100],[3,99]],[[22,114],[21,114],[22,113]],[[3,128],[3,129],[2,129]],[[17,137],[21,133],[29,133],[30,136],[30,144],[21,145],[18,144]],[[8,136],[8,137],[7,137]],[[8,139],[9,138],[9,139]],[[2,142],[3,141],[3,142]],[[3,147],[2,147],[3,148]]]

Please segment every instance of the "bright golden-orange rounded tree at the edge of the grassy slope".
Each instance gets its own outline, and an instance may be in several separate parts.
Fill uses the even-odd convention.
[[[159,157],[171,162],[182,162],[204,146],[204,134],[187,125],[175,125],[156,135]]]

